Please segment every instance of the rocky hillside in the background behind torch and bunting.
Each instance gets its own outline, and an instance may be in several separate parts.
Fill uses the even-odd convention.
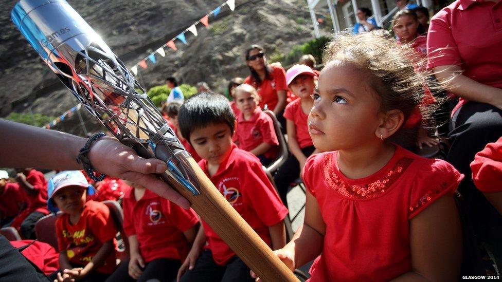
[[[31,46],[10,21],[12,0],[0,0],[0,117],[11,111],[40,112],[59,116],[76,104]],[[223,0],[68,0],[128,66],[165,44]],[[186,33],[188,44],[176,41],[166,57],[140,69],[139,82],[146,88],[163,84],[167,76],[182,83],[206,81],[223,91],[233,77],[246,77],[244,50],[260,44],[268,57],[287,53],[293,46],[313,38],[310,14],[304,0],[236,0],[236,10],[224,6],[209,27],[197,26],[199,35]],[[84,117],[84,119],[87,119]],[[82,134],[75,124],[59,130]],[[59,125],[58,125],[59,126]]]

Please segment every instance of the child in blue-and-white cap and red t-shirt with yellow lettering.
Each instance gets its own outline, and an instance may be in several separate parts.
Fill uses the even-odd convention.
[[[48,192],[49,209],[63,212],[56,220],[61,271],[51,278],[104,281],[115,270],[117,228],[110,210],[101,202],[86,202],[94,190],[79,171],[53,176]]]

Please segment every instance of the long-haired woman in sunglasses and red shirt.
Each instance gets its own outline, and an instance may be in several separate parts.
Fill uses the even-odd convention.
[[[282,117],[286,107],[286,72],[277,64],[267,64],[265,49],[260,45],[253,44],[246,50],[246,63],[251,74],[244,80],[258,90],[260,95],[260,107],[267,105],[274,111],[275,116],[285,128],[285,120]]]

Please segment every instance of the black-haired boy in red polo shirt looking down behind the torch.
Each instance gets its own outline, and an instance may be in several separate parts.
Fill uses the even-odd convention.
[[[202,157],[199,165],[212,183],[272,249],[283,246],[282,220],[288,210],[258,158],[232,143],[235,116],[225,97],[209,93],[194,96],[180,108],[178,120],[183,136]],[[204,221],[180,268],[180,277],[181,281],[254,281],[249,268]]]

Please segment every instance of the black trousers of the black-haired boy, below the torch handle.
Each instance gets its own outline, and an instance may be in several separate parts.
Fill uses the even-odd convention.
[[[203,250],[195,263],[195,267],[192,270],[187,270],[180,281],[255,281],[249,271],[249,268],[238,256],[232,257],[225,266],[220,266],[212,258],[210,250]]]

